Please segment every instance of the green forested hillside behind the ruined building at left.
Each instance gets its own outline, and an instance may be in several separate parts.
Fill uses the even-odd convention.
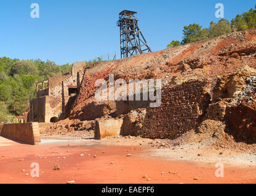
[[[65,74],[71,66],[58,66],[49,60],[0,58],[0,123],[10,121],[29,107],[29,100],[36,91],[36,82]]]

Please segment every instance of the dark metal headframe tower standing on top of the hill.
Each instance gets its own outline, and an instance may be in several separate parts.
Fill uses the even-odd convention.
[[[151,49],[138,28],[137,12],[123,10],[119,13],[121,58],[143,54]]]

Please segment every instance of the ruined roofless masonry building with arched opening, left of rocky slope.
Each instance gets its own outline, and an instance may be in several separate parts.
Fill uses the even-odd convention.
[[[36,85],[36,98],[30,100],[30,122],[50,123],[68,117],[85,65],[84,61],[75,62],[70,73]]]

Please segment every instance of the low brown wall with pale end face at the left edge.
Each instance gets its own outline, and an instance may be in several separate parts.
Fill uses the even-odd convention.
[[[38,123],[0,124],[0,135],[14,141],[30,145],[41,143]]]

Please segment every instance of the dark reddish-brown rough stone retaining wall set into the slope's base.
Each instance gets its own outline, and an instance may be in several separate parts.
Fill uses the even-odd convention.
[[[210,103],[209,86],[196,80],[162,89],[162,104],[147,108],[140,135],[174,139],[196,128]]]

